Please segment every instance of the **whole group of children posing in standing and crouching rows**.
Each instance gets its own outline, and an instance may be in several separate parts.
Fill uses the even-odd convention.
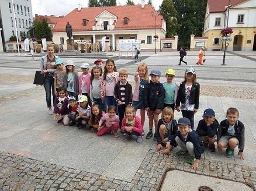
[[[148,79],[146,63],[140,63],[134,75],[134,91],[127,82],[126,70],[117,72],[115,62],[108,59],[103,64],[101,59],[95,61],[89,73],[89,64],[82,63],[82,74],[75,72],[72,61],[56,61],[57,71],[54,73],[54,90],[58,95],[54,100],[54,118],[64,125],[77,125],[82,128],[89,125],[102,136],[111,132],[118,137],[120,132],[124,140],[137,136],[137,142],[143,141],[144,122],[147,111],[149,132],[146,139],[157,140],[157,150],[165,147],[169,154],[173,147],[179,146],[178,155],[191,155],[189,164],[198,169],[201,154],[209,146],[210,151],[217,148],[226,149],[226,156],[233,157],[234,148],[238,146],[238,155],[243,159],[244,125],[238,121],[236,108],[227,110],[224,121],[215,119],[213,109],[206,109],[198,128],[194,128],[194,114],[199,108],[200,85],[196,82],[195,69],[185,70],[184,81],[178,86],[172,82],[175,71],[168,69],[166,82],[160,83],[161,71],[153,69]],[[78,95],[79,98],[78,98]],[[136,115],[140,109],[140,118]],[[174,110],[182,112],[182,118],[174,119]],[[161,113],[161,118],[158,116]],[[153,126],[155,132],[153,133]]]

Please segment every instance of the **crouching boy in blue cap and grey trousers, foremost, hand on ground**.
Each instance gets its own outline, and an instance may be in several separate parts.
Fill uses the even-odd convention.
[[[177,143],[181,148],[177,152],[177,155],[186,155],[187,152],[191,155],[191,158],[188,160],[188,164],[192,164],[192,169],[198,169],[199,161],[201,154],[204,152],[205,148],[203,143],[198,136],[198,133],[195,130],[190,128],[191,123],[188,118],[179,118],[178,127],[179,131],[177,132],[175,139],[171,140],[171,149]]]

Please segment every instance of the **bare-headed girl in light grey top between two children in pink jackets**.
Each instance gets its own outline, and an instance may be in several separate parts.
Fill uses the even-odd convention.
[[[91,74],[91,87],[90,87],[90,98],[94,104],[99,104],[102,111],[106,111],[106,105],[101,100],[101,80],[102,80],[102,68],[95,66],[92,68]]]

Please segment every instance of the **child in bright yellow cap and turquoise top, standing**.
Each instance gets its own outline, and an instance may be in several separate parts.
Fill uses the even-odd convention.
[[[175,77],[175,71],[173,69],[168,69],[165,73],[165,77],[167,82],[162,84],[165,89],[164,108],[171,107],[172,111],[174,111],[175,101],[177,99],[179,89],[179,86],[172,82]]]

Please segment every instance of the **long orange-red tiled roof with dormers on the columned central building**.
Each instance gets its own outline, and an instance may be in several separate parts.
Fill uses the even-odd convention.
[[[82,8],[80,11],[74,9],[63,17],[54,26],[52,31],[65,31],[67,22],[70,22],[73,31],[92,31],[92,26],[95,24],[95,17],[104,10],[108,10],[108,12],[117,17],[114,30],[155,29],[155,17],[151,15],[151,12],[154,12],[155,16],[158,13],[151,5],[145,5],[144,8],[141,8],[141,5],[126,5]],[[129,18],[128,24],[123,24],[124,17]],[[89,20],[87,26],[83,26],[82,19]],[[161,15],[157,17],[157,29],[161,29],[162,19],[164,18]]]

